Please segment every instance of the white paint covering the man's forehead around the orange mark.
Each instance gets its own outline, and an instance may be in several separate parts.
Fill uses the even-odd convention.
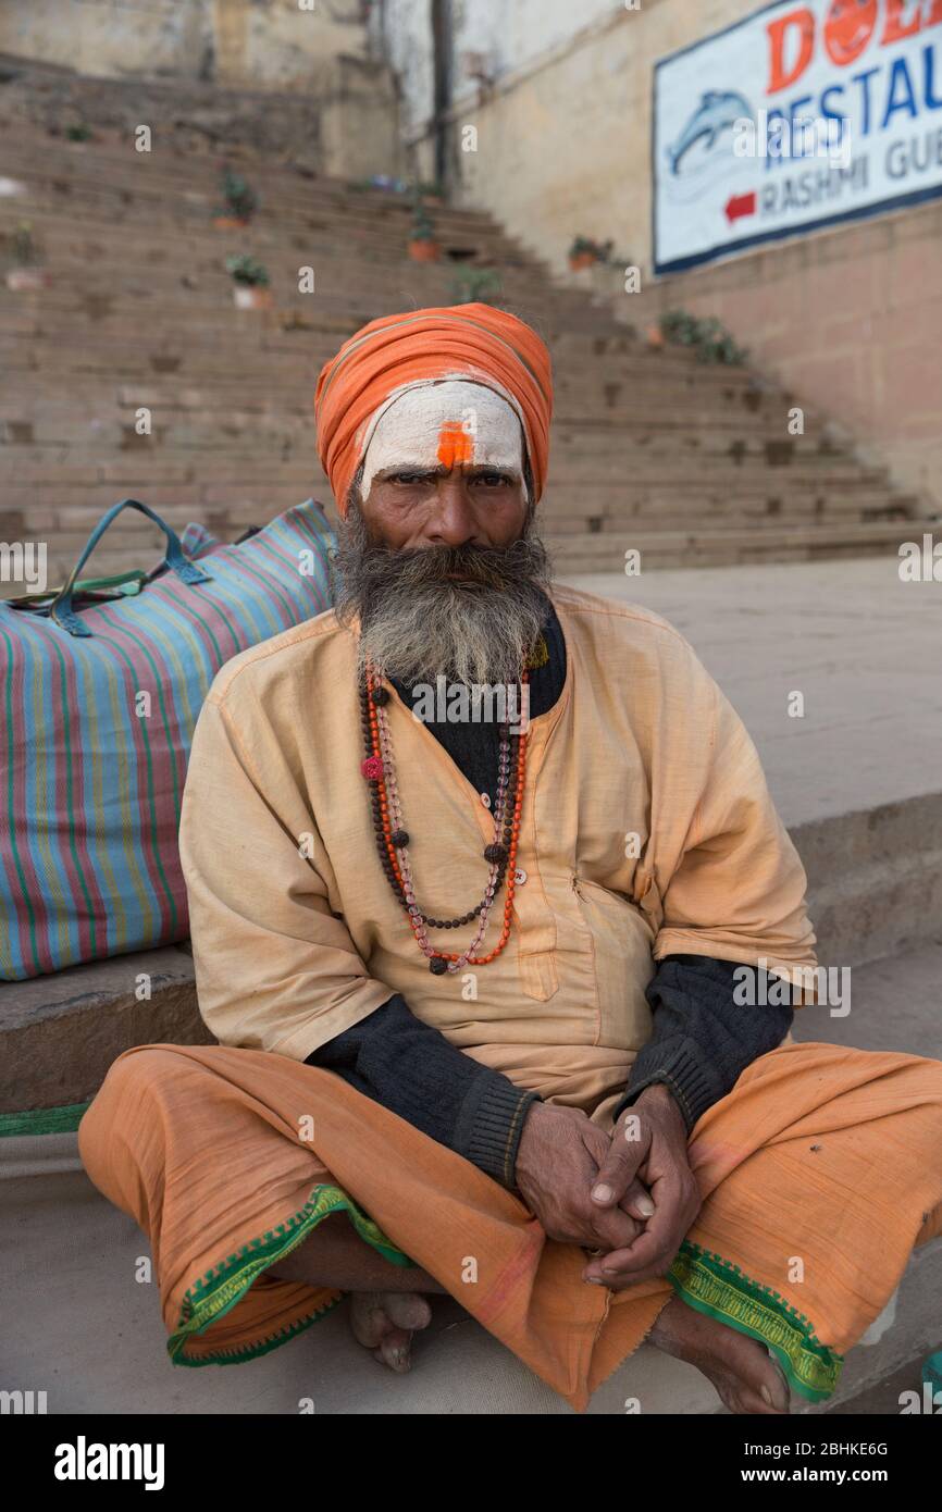
[[[511,467],[523,476],[519,405],[502,387],[496,392],[490,380],[476,383],[461,372],[402,384],[373,411],[363,432],[363,497],[369,497],[373,478],[384,469],[438,467],[442,431],[455,423],[472,443],[475,466]]]

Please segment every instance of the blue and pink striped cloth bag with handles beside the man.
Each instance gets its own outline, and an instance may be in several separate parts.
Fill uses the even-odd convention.
[[[125,508],[160,526],[166,558],[79,582]],[[330,606],[334,544],[313,499],[233,546],[124,499],[59,593],[0,603],[2,981],[186,939],[177,829],[200,706],[230,656]]]

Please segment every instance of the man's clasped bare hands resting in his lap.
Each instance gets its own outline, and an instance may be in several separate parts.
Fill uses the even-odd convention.
[[[700,1211],[686,1125],[659,1084],[644,1089],[611,1136],[579,1108],[534,1102],[516,1179],[549,1238],[602,1250],[582,1279],[612,1291],[664,1276]]]

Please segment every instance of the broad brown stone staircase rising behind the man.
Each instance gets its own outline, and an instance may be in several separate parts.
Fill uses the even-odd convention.
[[[311,401],[321,364],[358,325],[452,304],[457,266],[496,268],[499,302],[547,340],[555,367],[543,531],[556,573],[895,552],[919,500],[900,493],[742,367],[655,349],[611,307],[555,286],[487,215],[432,206],[443,262],[407,257],[404,197],[360,191],[236,144],[262,195],[253,224],[219,230],[221,153],[178,142],[136,153],[127,130],[50,135],[0,89],[0,260],[29,221],[48,286],[0,284],[0,540],[41,540],[48,582],[100,516],[133,496],[171,525],[224,540],[310,496],[330,500]],[[88,118],[88,112],[86,112]],[[274,308],[236,310],[224,263],[268,268]],[[315,293],[298,292],[313,268]],[[151,411],[151,434],[136,417]],[[119,520],[86,569],[150,569],[163,537]],[[0,584],[0,596],[23,591]]]

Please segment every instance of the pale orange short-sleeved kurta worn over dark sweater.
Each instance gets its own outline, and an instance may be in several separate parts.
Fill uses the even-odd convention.
[[[455,975],[429,972],[375,853],[354,634],[328,611],[216,676],[180,853],[200,1007],[224,1045],[304,1060],[401,992],[469,1055],[605,1122],[650,1037],[655,960],[813,968],[804,871],[732,705],[656,614],[552,599],[567,673],[529,730],[526,880],[505,951]],[[387,686],[419,901],[461,913],[491,816]],[[496,910],[481,954],[499,927]],[[432,931],[446,950],[464,937]]]

